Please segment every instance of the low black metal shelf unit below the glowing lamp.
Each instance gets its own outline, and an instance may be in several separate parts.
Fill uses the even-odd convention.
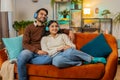
[[[112,18],[83,18],[82,32],[112,34]]]

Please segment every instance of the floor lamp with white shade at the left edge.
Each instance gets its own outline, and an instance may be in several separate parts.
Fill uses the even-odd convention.
[[[12,11],[13,11],[13,0],[1,0],[1,9],[0,11],[2,12],[2,14],[7,14],[7,20],[4,21],[4,24],[8,24],[7,28],[8,28],[8,37],[11,37],[11,29],[12,29]],[[5,17],[2,16],[3,18]],[[3,19],[5,20],[5,19]],[[6,22],[6,23],[5,23]]]

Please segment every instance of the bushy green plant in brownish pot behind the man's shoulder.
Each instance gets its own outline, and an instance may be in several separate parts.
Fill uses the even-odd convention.
[[[13,23],[13,28],[20,34],[23,34],[24,29],[27,25],[33,23],[33,21],[14,21]]]

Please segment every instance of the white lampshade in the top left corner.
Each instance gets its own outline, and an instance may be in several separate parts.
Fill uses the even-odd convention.
[[[1,0],[1,12],[13,11],[13,0]]]

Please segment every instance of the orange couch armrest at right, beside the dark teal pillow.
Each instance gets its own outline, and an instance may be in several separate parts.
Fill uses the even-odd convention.
[[[102,80],[114,80],[117,71],[117,64],[118,64],[118,49],[117,42],[114,42],[112,43],[112,53],[107,58],[105,74]]]

